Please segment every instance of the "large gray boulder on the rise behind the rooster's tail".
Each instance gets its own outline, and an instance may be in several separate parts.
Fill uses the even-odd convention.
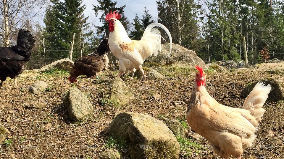
[[[178,67],[191,68],[195,68],[195,65],[199,65],[206,69],[209,68],[194,51],[188,50],[178,44],[172,44],[172,53],[170,57],[167,57],[169,51],[170,44],[162,44],[162,51],[158,53],[157,57],[152,55],[147,61],[160,65],[175,65]]]

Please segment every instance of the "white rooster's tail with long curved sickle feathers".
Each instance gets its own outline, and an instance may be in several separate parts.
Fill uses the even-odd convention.
[[[161,52],[162,47],[161,47],[161,33],[158,29],[154,27],[160,27],[164,29],[164,31],[167,33],[169,39],[170,39],[170,52],[168,54],[168,57],[170,56],[172,52],[172,36],[170,31],[160,23],[152,23],[149,24],[148,27],[145,29],[143,36],[141,40],[148,40],[153,44],[153,50],[154,50],[154,56],[158,55],[158,51]]]

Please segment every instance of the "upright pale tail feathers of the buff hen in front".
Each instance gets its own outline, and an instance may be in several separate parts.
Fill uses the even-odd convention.
[[[258,82],[243,104],[243,109],[249,110],[251,115],[254,116],[258,122],[261,121],[265,112],[262,106],[267,100],[270,91],[271,86],[269,84],[265,86],[264,82]]]

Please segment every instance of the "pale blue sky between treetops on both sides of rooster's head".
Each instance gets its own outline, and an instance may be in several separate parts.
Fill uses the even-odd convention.
[[[155,18],[158,15],[156,0],[143,0],[143,1],[135,1],[135,0],[114,0],[117,1],[117,6],[125,6],[125,16],[128,17],[129,21],[133,21],[135,15],[137,14],[140,18],[142,18],[142,14],[144,11],[144,7],[147,7],[149,13]],[[95,20],[95,24],[101,24],[97,17],[101,17],[101,14],[95,17],[93,9],[93,5],[98,5],[97,0],[84,0],[86,5],[85,16],[90,16],[90,19]]]

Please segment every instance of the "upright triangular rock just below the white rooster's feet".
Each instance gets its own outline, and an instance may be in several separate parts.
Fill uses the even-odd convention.
[[[110,101],[115,105],[121,106],[126,105],[129,100],[133,99],[134,96],[130,92],[129,88],[125,85],[120,77],[115,77],[108,83],[110,93]]]

